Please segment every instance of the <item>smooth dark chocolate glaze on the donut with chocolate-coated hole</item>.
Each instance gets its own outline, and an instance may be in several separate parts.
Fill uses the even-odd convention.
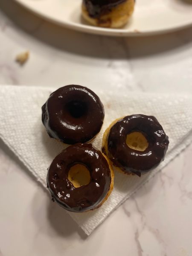
[[[104,116],[99,97],[80,85],[59,88],[42,107],[42,122],[47,133],[66,144],[93,139],[101,130]]]

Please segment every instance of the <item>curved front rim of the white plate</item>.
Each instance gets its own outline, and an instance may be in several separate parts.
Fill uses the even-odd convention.
[[[55,19],[54,17],[50,17],[49,15],[46,15],[40,11],[38,11],[35,8],[32,8],[28,6],[27,3],[23,3],[23,0],[15,0],[20,6],[23,6],[30,12],[34,13],[35,15],[38,15],[41,18],[44,18],[45,20],[56,23],[60,26],[66,27],[67,29],[76,30],[79,32],[84,32],[88,34],[94,34],[94,35],[105,35],[105,36],[119,36],[119,37],[138,37],[138,36],[150,36],[150,35],[160,35],[160,34],[166,34],[169,32],[178,31],[180,29],[189,28],[192,26],[192,21],[189,23],[180,24],[175,27],[168,27],[166,29],[156,29],[156,30],[146,30],[144,32],[142,31],[126,31],[123,29],[110,29],[110,28],[101,28],[86,24],[78,24],[78,23],[72,23],[72,22],[66,22],[66,21],[59,21]]]

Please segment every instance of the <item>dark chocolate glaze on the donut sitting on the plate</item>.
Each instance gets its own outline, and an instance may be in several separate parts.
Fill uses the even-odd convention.
[[[90,17],[96,18],[107,14],[111,8],[125,2],[126,0],[83,0]]]

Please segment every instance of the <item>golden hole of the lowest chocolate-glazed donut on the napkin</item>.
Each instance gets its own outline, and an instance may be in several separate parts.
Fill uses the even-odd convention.
[[[89,184],[90,179],[90,172],[83,164],[77,163],[70,167],[68,180],[70,180],[75,188]]]

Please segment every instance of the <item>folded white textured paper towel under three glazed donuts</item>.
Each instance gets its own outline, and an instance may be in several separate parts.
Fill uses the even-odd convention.
[[[65,148],[62,143],[49,138],[41,122],[41,106],[54,90],[44,87],[0,87],[0,137],[44,187],[47,168]],[[107,90],[95,92],[104,104],[105,121],[102,131],[93,141],[94,147],[101,150],[103,132],[113,120],[140,113],[156,116],[169,136],[170,144],[164,162],[151,173],[135,177],[115,172],[113,192],[102,207],[85,213],[69,212],[87,235],[192,141],[191,96],[116,94]]]

